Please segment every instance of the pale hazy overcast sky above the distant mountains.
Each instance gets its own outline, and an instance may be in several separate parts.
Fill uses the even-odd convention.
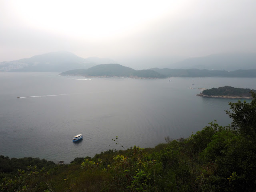
[[[255,52],[256,0],[0,0],[0,62]]]

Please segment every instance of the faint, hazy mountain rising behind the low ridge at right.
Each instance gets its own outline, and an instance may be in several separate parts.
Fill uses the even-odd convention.
[[[214,54],[204,57],[187,58],[172,64],[173,67],[227,71],[256,69],[256,53]]]

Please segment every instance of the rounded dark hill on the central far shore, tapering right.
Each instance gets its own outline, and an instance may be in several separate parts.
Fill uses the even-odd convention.
[[[120,64],[100,64],[88,69],[77,69],[62,72],[60,75],[96,76],[96,77],[130,77],[130,78],[166,78],[154,70],[134,70]]]

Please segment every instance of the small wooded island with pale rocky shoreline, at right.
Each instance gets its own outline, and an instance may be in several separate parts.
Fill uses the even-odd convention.
[[[234,88],[231,86],[224,86],[219,88],[211,88],[203,90],[198,96],[211,97],[211,98],[228,98],[228,99],[252,99],[252,92],[248,88]]]

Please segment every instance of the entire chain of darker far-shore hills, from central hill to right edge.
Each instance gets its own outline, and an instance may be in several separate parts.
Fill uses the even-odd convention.
[[[130,77],[130,78],[168,78],[168,77],[256,77],[256,70],[199,70],[199,69],[159,69],[134,70],[120,64],[100,64],[88,69],[62,72],[60,75],[87,77]]]

